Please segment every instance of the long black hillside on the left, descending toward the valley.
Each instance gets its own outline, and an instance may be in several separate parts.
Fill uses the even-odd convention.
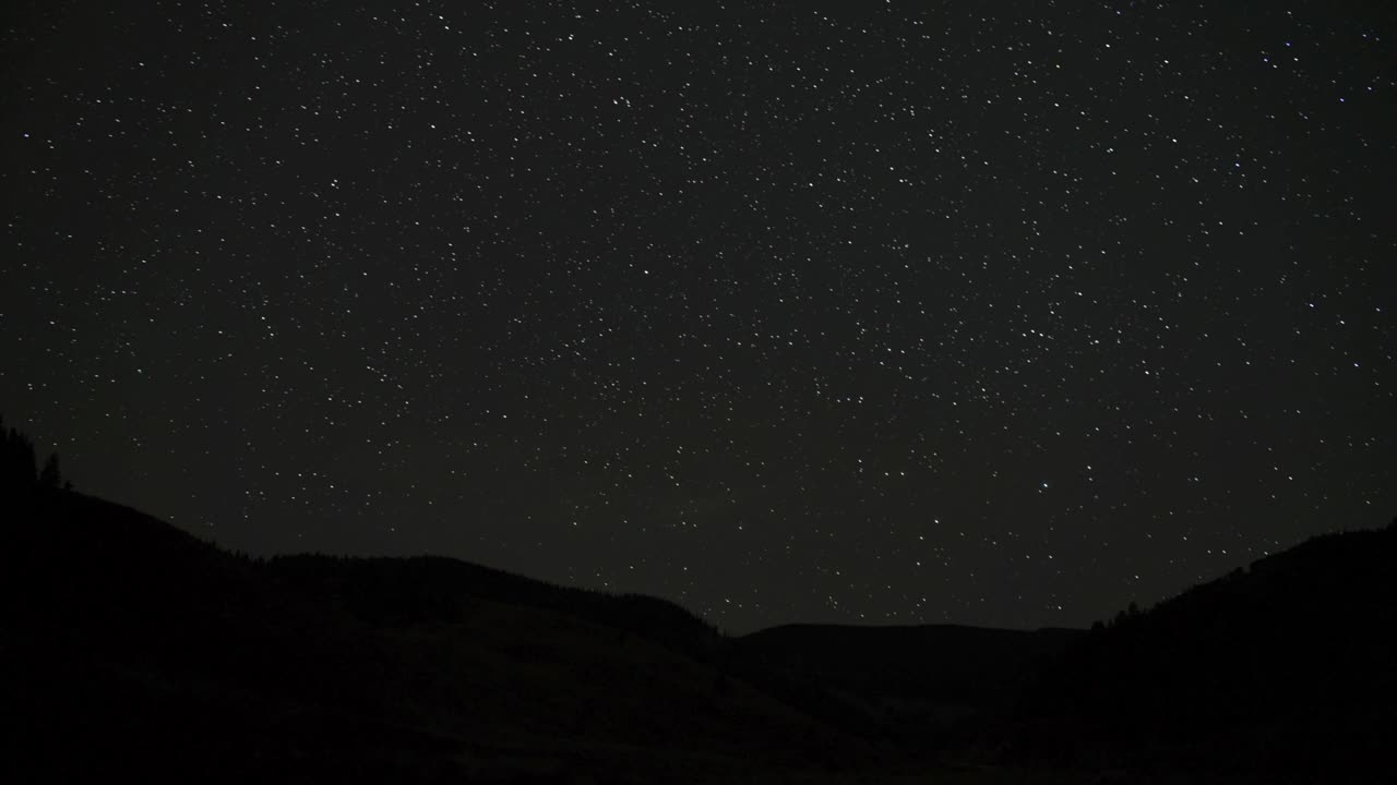
[[[876,756],[661,601],[450,560],[260,563],[52,489],[6,511],[10,772],[682,782]]]

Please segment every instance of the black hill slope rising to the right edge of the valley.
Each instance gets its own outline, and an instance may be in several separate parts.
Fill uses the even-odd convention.
[[[1397,782],[1397,525],[1319,536],[1087,636],[1006,733],[1035,765]]]

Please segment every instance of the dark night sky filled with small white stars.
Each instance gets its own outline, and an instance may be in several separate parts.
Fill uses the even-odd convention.
[[[3,18],[0,412],[221,545],[1032,627],[1397,513],[1397,4]]]

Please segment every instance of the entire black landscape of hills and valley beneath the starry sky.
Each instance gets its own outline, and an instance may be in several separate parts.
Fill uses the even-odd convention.
[[[662,599],[454,559],[233,555],[43,479],[32,443],[7,439],[6,781],[1393,771],[1397,527],[1316,538],[1091,633],[793,624],[729,638]]]

